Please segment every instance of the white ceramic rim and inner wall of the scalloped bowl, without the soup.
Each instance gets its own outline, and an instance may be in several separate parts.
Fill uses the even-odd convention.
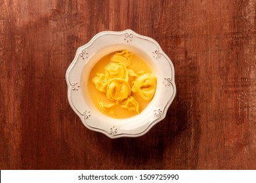
[[[104,115],[93,105],[87,90],[86,78],[95,63],[111,52],[129,50],[147,61],[156,75],[156,93],[152,101],[140,114],[131,118],[116,119]],[[85,81],[85,82],[84,82]],[[77,49],[75,58],[66,71],[68,101],[81,118],[83,124],[93,131],[117,137],[139,137],[163,120],[175,94],[175,72],[173,63],[154,39],[127,29],[125,31],[103,31],[91,41]]]

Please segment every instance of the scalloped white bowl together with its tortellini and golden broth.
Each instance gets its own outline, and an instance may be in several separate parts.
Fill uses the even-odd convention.
[[[160,45],[129,29],[98,33],[78,48],[66,81],[83,124],[110,138],[148,132],[176,93],[173,63]]]

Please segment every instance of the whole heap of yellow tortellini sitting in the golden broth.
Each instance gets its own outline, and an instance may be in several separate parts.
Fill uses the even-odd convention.
[[[156,76],[144,71],[135,72],[131,69],[133,53],[122,50],[110,58],[110,63],[104,68],[104,73],[96,73],[93,83],[98,91],[106,93],[106,101],[98,101],[103,112],[112,114],[113,107],[119,106],[140,113],[140,105],[135,98],[150,101],[156,91]]]

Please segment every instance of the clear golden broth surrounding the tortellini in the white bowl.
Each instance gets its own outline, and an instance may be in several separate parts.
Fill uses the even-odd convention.
[[[93,104],[106,114],[107,116],[110,116],[112,118],[129,118],[131,116],[137,115],[137,112],[134,110],[127,110],[127,108],[123,108],[120,105],[114,105],[111,107],[111,112],[104,112],[102,111],[102,108],[100,108],[99,101],[102,103],[110,104],[113,103],[112,100],[108,99],[106,97],[106,93],[100,92],[99,90],[96,89],[95,83],[93,82],[93,78],[97,75],[97,73],[104,73],[106,65],[110,63],[110,59],[112,58],[112,55],[114,54],[110,53],[103,58],[101,58],[95,66],[91,69],[91,73],[89,74],[89,78],[87,81],[87,88],[89,91],[89,97],[93,101]],[[130,65],[127,67],[127,69],[132,69],[135,71],[135,73],[143,72],[143,73],[152,73],[152,70],[148,66],[148,64],[139,56],[133,54],[133,58],[131,58]],[[138,93],[133,93],[131,92],[131,96],[135,98],[137,103],[139,103],[139,113],[144,110],[144,108],[150,103],[150,101],[145,101],[142,99]]]

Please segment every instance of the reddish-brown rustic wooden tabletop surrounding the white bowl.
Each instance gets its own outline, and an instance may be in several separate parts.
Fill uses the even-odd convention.
[[[0,169],[256,169],[256,2],[0,0]],[[138,138],[83,126],[66,69],[133,29],[175,65],[167,118]]]

